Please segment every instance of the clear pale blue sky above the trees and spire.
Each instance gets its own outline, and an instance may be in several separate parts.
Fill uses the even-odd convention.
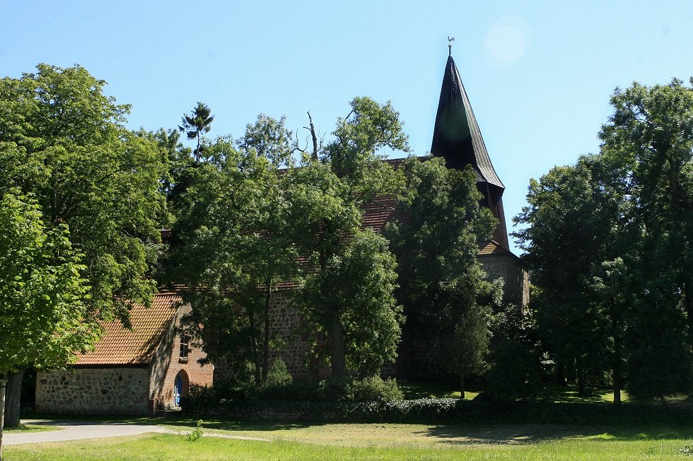
[[[597,152],[615,87],[693,75],[693,1],[0,1],[0,76],[80,64],[132,104],[129,126],[173,128],[197,101],[211,136],[257,114],[310,110],[332,131],[355,96],[391,100],[424,155],[448,36],[508,221],[529,179]],[[508,228],[511,223],[508,222]]]

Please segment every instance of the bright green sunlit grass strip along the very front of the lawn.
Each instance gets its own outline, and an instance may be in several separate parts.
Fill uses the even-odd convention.
[[[136,438],[103,439],[36,445],[13,445],[7,461],[86,460],[689,460],[679,450],[689,443],[682,438],[623,441],[617,438],[559,438],[537,443],[489,445],[440,443],[421,445],[399,442],[383,445],[333,445],[303,441],[271,442],[156,434]]]

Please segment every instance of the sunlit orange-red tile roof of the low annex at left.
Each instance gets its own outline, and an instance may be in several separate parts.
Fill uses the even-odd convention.
[[[153,357],[161,337],[175,319],[180,297],[155,294],[151,307],[134,304],[130,311],[132,330],[120,321],[105,323],[103,336],[93,352],[78,357],[77,366],[144,365]]]

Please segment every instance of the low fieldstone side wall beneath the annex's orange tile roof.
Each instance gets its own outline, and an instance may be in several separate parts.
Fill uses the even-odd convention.
[[[55,414],[148,414],[147,368],[40,371],[36,411]]]

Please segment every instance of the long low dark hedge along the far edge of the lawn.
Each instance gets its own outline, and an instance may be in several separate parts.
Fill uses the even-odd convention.
[[[187,398],[186,416],[241,420],[421,422],[455,424],[690,424],[693,409],[670,405],[474,402],[458,399],[395,402],[295,402]]]

